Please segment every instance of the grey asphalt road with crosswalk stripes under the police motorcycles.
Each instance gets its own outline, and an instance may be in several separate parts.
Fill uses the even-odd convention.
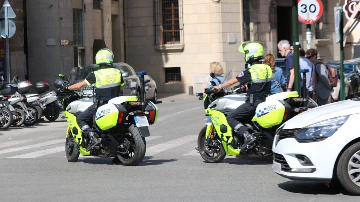
[[[67,162],[66,122],[0,131],[0,201],[359,201],[339,185],[293,181],[271,162],[226,157],[205,163],[197,136],[203,103],[194,96],[160,99],[141,165],[112,158]],[[174,100],[174,102],[170,102]]]

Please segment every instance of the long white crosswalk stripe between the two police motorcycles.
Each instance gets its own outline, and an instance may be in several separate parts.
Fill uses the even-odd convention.
[[[192,141],[196,140],[197,137],[198,136],[184,136],[181,138],[173,139],[173,140],[165,142],[165,143],[154,145],[152,147],[146,148],[145,155],[152,156],[154,154],[157,154],[157,153],[160,153],[160,152],[163,152],[166,150],[170,150],[171,148],[192,142]]]

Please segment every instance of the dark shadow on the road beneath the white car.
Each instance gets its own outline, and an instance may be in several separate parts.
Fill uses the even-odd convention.
[[[300,194],[344,194],[352,196],[348,193],[340,183],[330,183],[330,186],[326,186],[323,183],[319,182],[307,182],[307,181],[296,181],[291,180],[288,182],[278,184],[279,188],[284,189],[288,192],[292,193],[300,193]]]

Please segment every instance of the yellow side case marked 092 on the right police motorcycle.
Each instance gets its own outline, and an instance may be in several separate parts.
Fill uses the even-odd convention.
[[[256,121],[263,128],[270,128],[282,123],[284,114],[285,106],[279,100],[269,100],[256,107],[252,121]]]

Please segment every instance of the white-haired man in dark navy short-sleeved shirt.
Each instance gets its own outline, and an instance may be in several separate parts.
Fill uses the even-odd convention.
[[[278,49],[281,56],[285,58],[286,65],[286,83],[287,91],[291,91],[294,84],[294,54],[290,50],[290,43],[288,40],[281,40],[278,43]]]

